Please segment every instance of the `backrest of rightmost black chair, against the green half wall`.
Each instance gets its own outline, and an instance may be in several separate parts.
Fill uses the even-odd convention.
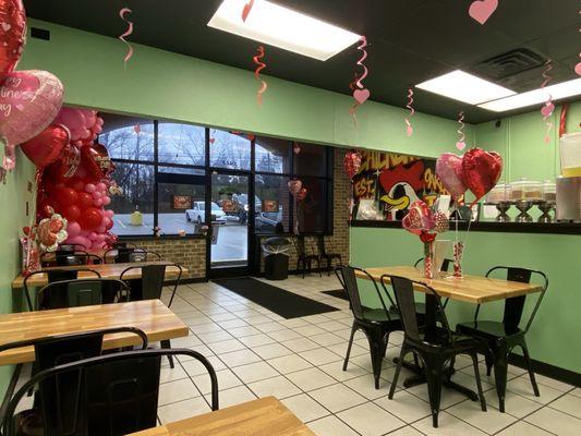
[[[541,302],[543,301],[543,296],[545,295],[545,292],[548,288],[548,278],[547,276],[542,271],[535,271],[533,269],[528,268],[521,268],[521,267],[515,267],[515,266],[495,266],[494,268],[491,268],[488,272],[486,272],[486,277],[489,277],[494,271],[506,271],[506,278],[509,281],[518,281],[521,283],[530,283],[531,278],[533,275],[540,276],[543,281],[543,290],[541,291],[541,295],[538,296],[536,301],[536,305],[531,314],[531,317],[529,318],[529,322],[526,323],[526,327],[524,328],[524,331],[528,331],[531,327],[531,324],[533,323],[534,316],[536,315],[536,311],[538,310],[538,306],[541,305]],[[524,311],[524,302],[526,301],[526,295],[519,295],[519,296],[512,296],[510,299],[505,300],[505,311],[503,314],[503,324],[505,325],[505,328],[507,331],[517,331],[522,318],[522,313]],[[474,319],[477,317],[477,311],[480,310],[476,307],[476,315]]]

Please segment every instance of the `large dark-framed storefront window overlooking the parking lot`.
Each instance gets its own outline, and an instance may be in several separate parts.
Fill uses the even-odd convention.
[[[332,149],[315,144],[206,129],[178,122],[154,121],[102,113],[99,142],[113,159],[113,180],[123,195],[112,196],[112,231],[120,237],[198,234],[206,222],[206,195],[211,196],[210,220],[234,221],[221,202],[235,196],[252,207],[254,183],[256,233],[292,232],[295,219],[302,232],[332,230]],[[209,156],[207,156],[209,147]],[[254,156],[254,162],[252,161]],[[213,174],[214,170],[221,173]],[[252,171],[254,169],[254,171]],[[211,192],[207,193],[211,179]],[[295,204],[288,182],[300,179],[307,190]]]

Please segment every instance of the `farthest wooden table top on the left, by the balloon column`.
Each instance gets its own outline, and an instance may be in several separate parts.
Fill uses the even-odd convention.
[[[71,269],[78,270],[78,278],[95,278],[94,274],[83,272],[83,269],[93,269],[98,271],[104,279],[118,279],[129,267],[136,267],[125,274],[126,279],[140,279],[142,277],[142,271],[138,267],[146,265],[168,265],[167,262],[135,262],[126,264],[100,264],[100,265],[74,265],[74,266],[56,266],[50,268],[43,268],[44,270],[50,269]],[[166,268],[166,279],[178,278],[180,270],[178,267],[168,265]],[[187,268],[182,267],[182,277],[187,274]],[[28,280],[28,288],[34,287],[44,287],[48,283],[48,278],[45,274],[35,274]],[[21,289],[24,287],[24,277],[20,275],[12,281],[12,289]]]

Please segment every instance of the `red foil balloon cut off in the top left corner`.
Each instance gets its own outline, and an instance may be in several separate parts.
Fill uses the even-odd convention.
[[[22,0],[0,0],[0,82],[19,63],[26,40]]]

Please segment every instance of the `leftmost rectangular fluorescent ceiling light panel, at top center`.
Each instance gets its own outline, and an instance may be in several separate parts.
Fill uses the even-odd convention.
[[[360,35],[265,0],[256,0],[242,21],[245,1],[223,0],[209,27],[326,61],[356,43]]]

